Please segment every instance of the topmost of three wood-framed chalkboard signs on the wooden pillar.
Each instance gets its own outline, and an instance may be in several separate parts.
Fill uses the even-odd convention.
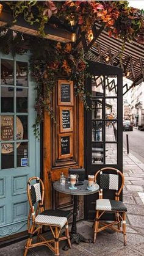
[[[58,80],[58,104],[73,106],[73,81]]]

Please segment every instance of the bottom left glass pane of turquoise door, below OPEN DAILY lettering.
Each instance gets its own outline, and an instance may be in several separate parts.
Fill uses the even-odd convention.
[[[2,169],[9,169],[14,167],[14,151],[13,144],[1,144],[1,167]]]

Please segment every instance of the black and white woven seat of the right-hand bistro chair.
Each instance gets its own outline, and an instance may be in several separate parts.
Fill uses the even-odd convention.
[[[124,203],[111,199],[96,200],[96,210],[99,211],[127,211]]]

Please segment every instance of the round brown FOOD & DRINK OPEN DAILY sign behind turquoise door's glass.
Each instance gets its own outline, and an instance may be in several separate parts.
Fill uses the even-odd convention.
[[[23,139],[23,125],[21,120],[16,117],[16,139]],[[1,141],[13,141],[14,139],[14,119],[12,115],[1,115]],[[16,144],[18,148],[20,143]],[[2,143],[2,154],[9,154],[13,152],[13,144]]]

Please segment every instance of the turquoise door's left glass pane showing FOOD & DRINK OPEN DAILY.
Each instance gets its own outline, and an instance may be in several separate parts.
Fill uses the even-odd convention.
[[[1,116],[1,141],[13,141],[13,134],[13,117],[10,115]]]

